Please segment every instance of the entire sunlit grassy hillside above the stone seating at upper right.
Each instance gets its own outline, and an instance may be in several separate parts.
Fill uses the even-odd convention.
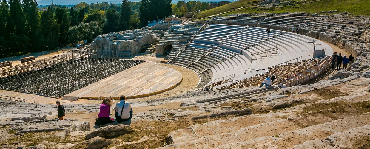
[[[240,0],[240,4],[232,5],[233,3],[203,11],[199,14],[198,18],[212,16],[225,11],[233,10],[242,6],[252,6],[259,3],[262,0]],[[234,2],[236,3],[236,2]],[[318,13],[320,11],[338,10],[349,11],[354,15],[358,16],[370,16],[370,0],[317,0],[304,4],[296,4],[292,6],[272,7],[272,8],[258,8],[255,6],[239,9],[232,11],[231,13],[256,13],[256,12],[270,12],[270,13],[281,13],[281,12],[307,12],[307,13]],[[210,11],[210,12],[209,12]]]

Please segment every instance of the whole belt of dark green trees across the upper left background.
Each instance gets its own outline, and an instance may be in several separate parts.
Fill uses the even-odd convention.
[[[172,0],[141,0],[121,4],[79,3],[74,7],[37,7],[36,0],[0,0],[0,58],[30,52],[54,50],[91,42],[101,34],[147,26],[148,21],[175,14]],[[204,10],[204,3],[187,2],[186,11]],[[208,7],[208,6],[207,6]]]

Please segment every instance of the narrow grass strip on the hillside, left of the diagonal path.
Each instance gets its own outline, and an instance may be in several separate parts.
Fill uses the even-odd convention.
[[[259,3],[259,1],[260,0],[239,0],[239,1],[235,1],[235,2],[230,3],[230,4],[226,4],[226,5],[216,7],[216,8],[210,9],[210,10],[202,11],[197,18],[213,16],[215,14],[223,13],[223,12],[230,11],[230,10],[233,10],[233,9],[237,9],[237,8],[240,8],[240,7],[243,7],[243,6],[256,5],[257,3]]]

